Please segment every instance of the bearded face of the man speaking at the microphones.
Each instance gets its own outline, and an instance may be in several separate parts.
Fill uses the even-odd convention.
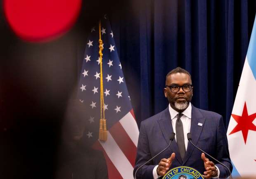
[[[191,85],[192,81],[186,73],[173,73],[166,79],[166,85]],[[182,87],[176,93],[171,92],[169,87],[164,88],[164,95],[168,99],[171,107],[178,112],[184,111],[188,106],[193,96],[193,87],[190,92],[184,92]]]

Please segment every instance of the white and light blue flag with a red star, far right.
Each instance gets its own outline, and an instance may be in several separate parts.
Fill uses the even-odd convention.
[[[256,19],[227,136],[233,175],[256,175]]]

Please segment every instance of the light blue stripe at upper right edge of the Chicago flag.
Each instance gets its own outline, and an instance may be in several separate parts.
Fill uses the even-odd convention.
[[[256,18],[251,32],[251,39],[247,51],[247,60],[251,71],[254,74],[254,79],[256,80]]]

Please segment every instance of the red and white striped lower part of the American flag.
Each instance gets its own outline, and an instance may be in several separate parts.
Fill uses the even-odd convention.
[[[97,141],[93,148],[104,151],[109,179],[132,179],[139,130],[133,110],[108,130],[107,141]]]

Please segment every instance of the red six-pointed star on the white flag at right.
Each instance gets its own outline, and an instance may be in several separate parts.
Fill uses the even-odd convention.
[[[230,134],[234,134],[235,132],[242,131],[242,134],[243,134],[243,137],[244,137],[244,143],[246,144],[248,131],[249,130],[256,131],[256,126],[252,123],[254,121],[254,119],[256,118],[256,113],[248,115],[246,102],[245,102],[242,116],[235,115],[235,114],[231,114],[231,115],[235,119],[235,121],[237,122],[237,125],[230,132]]]

